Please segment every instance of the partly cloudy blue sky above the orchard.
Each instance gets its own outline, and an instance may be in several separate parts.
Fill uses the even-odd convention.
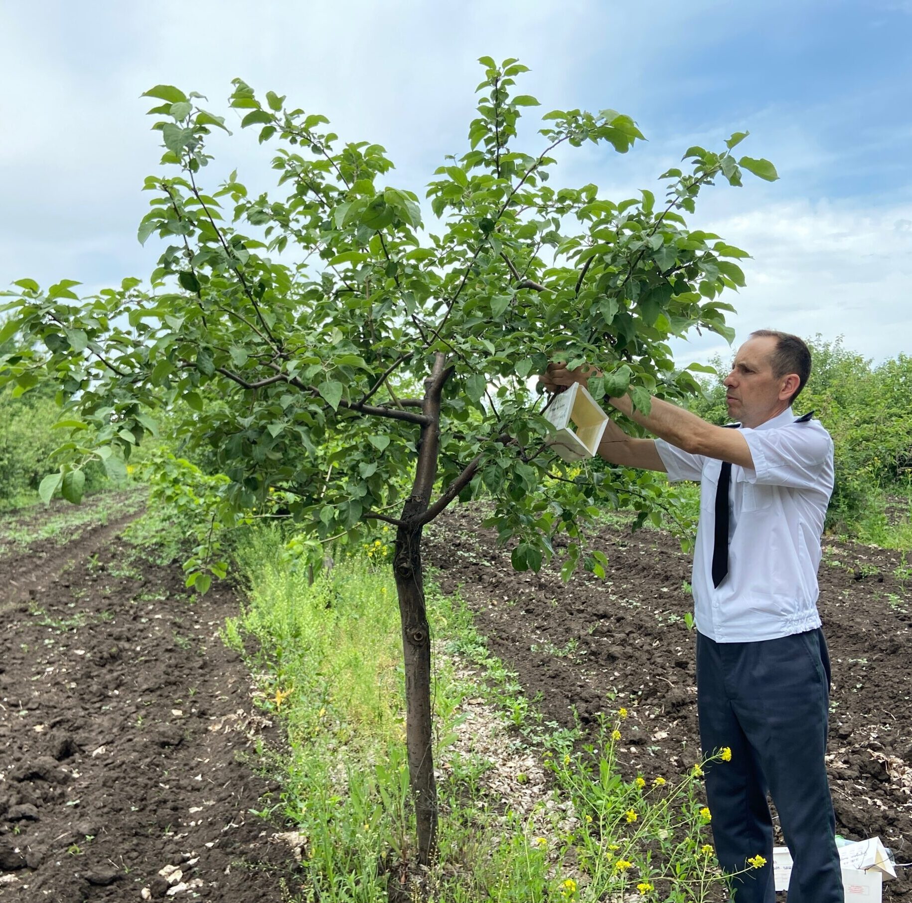
[[[648,139],[623,156],[566,149],[552,184],[660,191],[690,145],[749,130],[738,150],[780,180],[723,182],[689,218],[751,254],[725,298],[735,346],[776,328],[879,362],[912,350],[910,45],[912,0],[0,0],[0,286],[89,292],[150,273],[161,248],[136,230],[161,156],[145,116],[158,101],[140,97],[153,85],[200,91],[230,128],[232,78],[285,94],[344,140],[384,145],[390,183],[423,198],[444,156],[468,150],[478,57],[519,57],[531,71],[515,90],[542,103],[527,116],[610,107]],[[208,187],[236,167],[271,188],[269,151],[233,131],[212,142]],[[711,334],[672,348],[681,366],[732,353]]]

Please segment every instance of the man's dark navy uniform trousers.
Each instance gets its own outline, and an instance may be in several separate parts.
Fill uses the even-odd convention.
[[[697,705],[704,755],[731,747],[731,762],[706,768],[720,865],[735,903],[774,903],[769,791],[794,867],[789,903],[844,903],[835,818],[826,780],[830,660],[819,629],[754,643],[697,634]]]

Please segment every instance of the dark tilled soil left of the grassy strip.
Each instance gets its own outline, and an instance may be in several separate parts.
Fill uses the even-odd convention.
[[[53,515],[0,524],[0,899],[284,899],[232,587],[189,596],[119,536],[129,510],[34,539]]]

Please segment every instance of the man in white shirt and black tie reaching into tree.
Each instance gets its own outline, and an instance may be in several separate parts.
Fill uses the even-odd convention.
[[[833,492],[833,441],[792,402],[811,373],[795,336],[759,330],[725,378],[738,424],[714,426],[667,401],[648,414],[611,399],[658,438],[635,439],[608,421],[608,462],[700,482],[693,563],[700,742],[716,854],[735,877],[736,903],[773,903],[772,819],[779,812],[794,867],[789,903],[843,903],[833,802],[824,767],[830,665],[816,600],[824,515]],[[592,368],[551,364],[557,391]],[[748,870],[747,859],[766,865]]]

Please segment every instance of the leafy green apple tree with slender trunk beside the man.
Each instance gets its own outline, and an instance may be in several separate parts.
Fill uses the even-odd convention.
[[[658,197],[555,187],[555,152],[626,153],[643,140],[636,122],[614,109],[553,110],[538,146],[521,150],[517,124],[538,106],[514,90],[526,67],[481,63],[468,149],[434,172],[423,203],[396,184],[383,147],[341,140],[324,116],[240,79],[229,105],[242,130],[275,146],[278,188],[254,195],[236,172],[212,184],[209,145],[225,119],[195,92],[151,88],[164,152],[144,186],[140,242],[161,244],[148,281],[80,297],[69,279],[20,279],[0,306],[0,345],[16,337],[0,384],[22,394],[50,382],[62,409],[66,441],[46,498],[59,488],[78,502],[89,461],[123,472],[156,412],[169,411],[221,472],[205,496],[210,537],[276,490],[314,548],[395,527],[422,863],[437,825],[423,528],[483,494],[485,523],[513,545],[515,568],[537,571],[565,534],[565,576],[580,562],[604,576],[605,555],[582,528],[619,504],[647,516],[658,486],[600,460],[571,469],[557,459],[531,378],[550,360],[588,361],[604,371],[590,382],[596,399],[629,392],[644,410],[652,396],[698,391],[668,338],[708,329],[731,340],[720,295],[744,284],[746,254],[690,231],[684,214],[721,179],[776,178],[768,161],[736,159],[746,135],[735,133],[723,150],[689,148],[685,170],[659,177]],[[168,466],[180,482],[185,469]],[[204,590],[224,565],[197,552],[188,581]]]

